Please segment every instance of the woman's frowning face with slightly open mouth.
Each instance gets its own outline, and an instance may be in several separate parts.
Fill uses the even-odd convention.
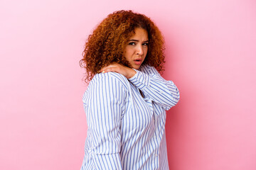
[[[139,69],[148,51],[148,33],[143,28],[135,28],[135,34],[129,38],[124,51],[124,57],[133,69]]]

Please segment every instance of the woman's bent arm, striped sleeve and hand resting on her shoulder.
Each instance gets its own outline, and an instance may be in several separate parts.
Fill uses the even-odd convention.
[[[166,111],[175,106],[179,100],[179,92],[173,81],[166,81],[154,67],[143,66],[143,72],[137,69],[125,67],[122,64],[110,64],[103,67],[101,72],[118,72],[132,84],[137,86],[146,97],[149,97],[157,105]]]

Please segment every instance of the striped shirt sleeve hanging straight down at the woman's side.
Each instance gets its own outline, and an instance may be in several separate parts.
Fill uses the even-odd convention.
[[[120,124],[125,93],[122,82],[113,73],[101,74],[87,94],[85,112],[90,140],[90,155],[95,169],[122,169]],[[87,136],[88,137],[88,136]]]

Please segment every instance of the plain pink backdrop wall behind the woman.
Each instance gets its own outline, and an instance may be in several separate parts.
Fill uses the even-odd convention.
[[[167,115],[173,170],[256,169],[256,2],[0,2],[0,169],[80,169],[86,119],[79,67],[108,13],[149,16],[181,93]]]

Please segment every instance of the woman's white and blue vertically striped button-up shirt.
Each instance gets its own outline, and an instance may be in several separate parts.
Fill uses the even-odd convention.
[[[169,169],[166,111],[179,92],[154,67],[142,65],[131,79],[96,74],[82,98],[87,118],[85,169]]]

